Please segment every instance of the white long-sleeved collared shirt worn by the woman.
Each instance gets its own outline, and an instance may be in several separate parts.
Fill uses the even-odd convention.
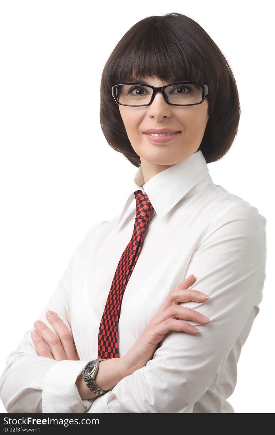
[[[179,305],[199,311],[210,322],[188,321],[199,328],[197,335],[169,331],[146,366],[105,395],[82,400],[75,381],[98,355],[103,310],[133,233],[136,190],[148,195],[155,213],[123,295],[119,356],[133,346],[169,291],[190,274],[195,275],[190,288],[209,299]],[[36,318],[53,331],[45,315],[53,310],[70,330],[66,319],[70,311],[80,361],[37,355],[30,321],[0,378],[7,412],[234,412],[227,398],[234,391],[241,349],[262,301],[265,228],[266,219],[256,207],[213,183],[201,151],[145,184],[139,167],[122,213],[87,231]]]

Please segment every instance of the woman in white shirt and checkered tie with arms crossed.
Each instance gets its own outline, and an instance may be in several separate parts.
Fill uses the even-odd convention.
[[[239,117],[232,70],[194,20],[147,17],[119,41],[100,122],[138,169],[122,212],[89,229],[8,356],[7,412],[234,412],[226,399],[262,300],[266,219],[207,164],[229,151]]]

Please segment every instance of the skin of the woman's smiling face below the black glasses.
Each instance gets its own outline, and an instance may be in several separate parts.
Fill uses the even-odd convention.
[[[158,78],[145,80],[156,87],[169,84]],[[195,153],[199,149],[209,119],[207,98],[202,104],[195,106],[171,106],[160,92],[149,106],[129,107],[119,104],[119,111],[129,141],[140,157],[142,169],[151,173],[160,172]],[[144,133],[150,128],[169,128],[180,133],[169,142],[157,144]]]

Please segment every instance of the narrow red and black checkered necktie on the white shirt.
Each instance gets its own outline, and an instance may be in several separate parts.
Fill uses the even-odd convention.
[[[131,240],[126,246],[116,268],[109,296],[100,321],[97,358],[119,358],[117,332],[123,294],[134,270],[142,248],[146,226],[153,207],[142,191],[135,191],[136,219]]]

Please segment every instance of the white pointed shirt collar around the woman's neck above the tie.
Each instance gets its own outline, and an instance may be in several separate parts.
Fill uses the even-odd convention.
[[[147,183],[144,183],[142,168],[139,166],[134,174],[126,204],[123,207],[115,229],[122,220],[129,205],[135,199],[134,192],[136,190],[141,190],[148,195],[156,214],[162,219],[203,179],[205,179],[204,184],[212,182],[201,150],[154,175]]]

